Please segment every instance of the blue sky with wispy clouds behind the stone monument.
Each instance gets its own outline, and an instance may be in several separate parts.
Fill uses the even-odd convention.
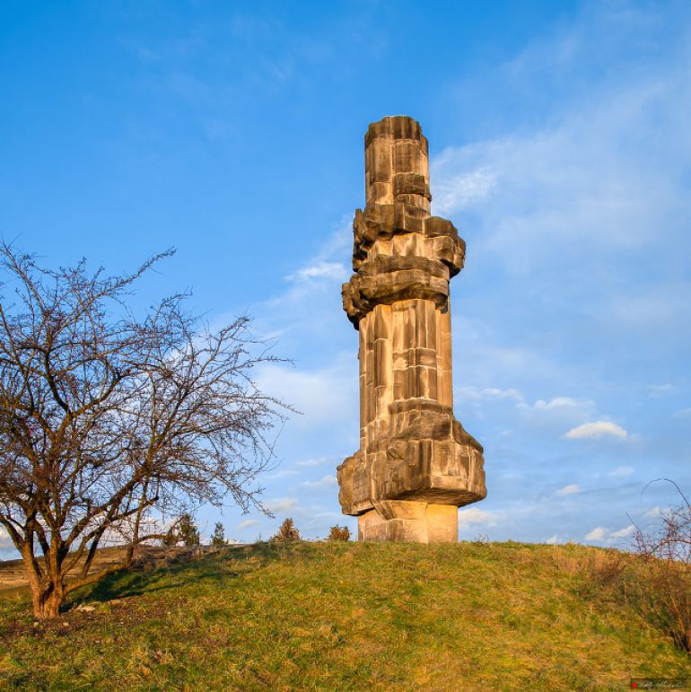
[[[620,545],[691,491],[691,5],[685,2],[0,4],[0,232],[48,264],[178,253],[136,301],[189,288],[249,311],[303,411],[263,478],[309,538],[358,446],[340,306],[363,134],[430,141],[453,280],[455,410],[485,445],[460,537]],[[6,547],[0,535],[0,547]]]

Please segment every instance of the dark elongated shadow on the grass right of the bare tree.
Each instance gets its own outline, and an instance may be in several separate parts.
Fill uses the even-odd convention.
[[[182,588],[190,583],[221,583],[256,572],[293,553],[293,549],[286,545],[258,543],[228,547],[211,555],[189,556],[188,559],[171,564],[159,560],[159,564],[149,563],[132,570],[109,574],[92,586],[74,591],[70,605],[125,599],[144,593]]]

